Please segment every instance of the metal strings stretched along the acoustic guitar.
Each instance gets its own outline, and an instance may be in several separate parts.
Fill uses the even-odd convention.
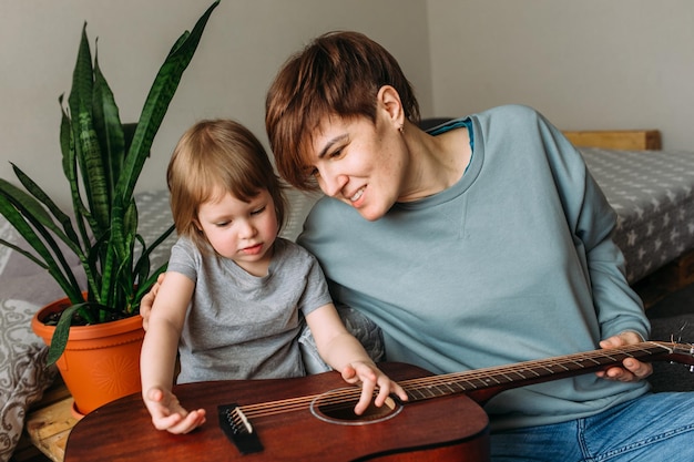
[[[646,347],[643,347],[643,345],[649,345],[650,347],[646,348]],[[417,379],[409,379],[409,380],[400,381],[399,383],[406,390],[406,392],[408,392],[408,396],[410,396],[411,398],[412,398],[412,394],[420,394],[422,392],[422,389],[425,389],[428,392],[427,393],[428,397],[431,397],[430,394],[431,392],[438,393],[435,396],[452,394],[456,392],[473,391],[474,389],[479,389],[480,387],[479,386],[476,387],[472,383],[473,381],[481,380],[482,381],[481,386],[483,388],[487,388],[489,387],[489,383],[492,381],[497,382],[498,384],[503,384],[506,382],[513,381],[513,379],[509,377],[509,374],[513,374],[513,373],[517,373],[518,376],[524,379],[528,379],[528,378],[532,379],[533,378],[532,376],[527,377],[523,373],[532,372],[535,377],[538,377],[540,376],[540,373],[533,372],[533,370],[537,370],[537,369],[545,370],[549,373],[558,373],[555,370],[552,369],[552,367],[557,367],[557,366],[561,366],[564,371],[571,370],[569,368],[563,367],[560,362],[563,362],[563,363],[573,362],[576,366],[579,366],[579,368],[585,369],[586,366],[583,363],[584,361],[592,362],[591,365],[589,365],[590,367],[601,366],[601,363],[596,361],[595,359],[609,359],[610,361],[616,361],[618,356],[633,357],[633,355],[636,352],[653,355],[654,353],[653,350],[656,347],[660,349],[665,349],[670,351],[670,348],[666,345],[671,346],[671,343],[663,343],[663,342],[643,342],[643,343],[639,343],[634,346],[621,347],[619,349],[614,349],[614,351],[608,351],[608,350],[589,351],[589,352],[583,352],[583,353],[574,353],[574,355],[570,355],[565,357],[560,357],[560,358],[525,361],[525,362],[511,365],[511,366],[500,366],[500,367],[477,369],[477,370],[470,370],[470,371],[463,371],[463,372],[455,372],[455,373],[449,373],[449,374],[429,376],[429,377],[422,377],[422,378],[417,378]],[[492,372],[499,372],[501,370],[504,370],[508,372],[508,373],[501,374],[506,377],[506,381],[500,381],[493,378],[490,379],[490,376],[493,376]],[[460,384],[461,378],[462,378],[462,381],[467,382],[471,387],[471,389],[466,389],[465,387]],[[441,387],[443,387],[445,390],[441,390],[440,389]],[[304,396],[304,397],[297,397],[297,398],[277,400],[277,401],[248,404],[248,405],[242,405],[241,408],[243,409],[243,412],[248,418],[258,418],[258,417],[273,415],[273,414],[283,413],[283,412],[303,410],[307,405],[309,405],[314,400],[320,397],[323,397],[320,401],[322,405],[346,404],[345,403],[346,399],[357,400],[360,393],[361,393],[361,390],[358,388],[351,388],[351,389],[346,388],[346,389],[335,390],[328,393]],[[418,399],[415,399],[415,401],[417,400]]]

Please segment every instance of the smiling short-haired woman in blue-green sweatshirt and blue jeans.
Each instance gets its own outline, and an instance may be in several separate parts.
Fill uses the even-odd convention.
[[[294,55],[266,102],[280,175],[327,196],[299,244],[388,360],[441,373],[647,338],[615,214],[554,126],[524,106],[418,119],[396,60],[355,32]],[[497,396],[493,459],[693,459],[694,393],[650,393],[651,371],[626,359]]]

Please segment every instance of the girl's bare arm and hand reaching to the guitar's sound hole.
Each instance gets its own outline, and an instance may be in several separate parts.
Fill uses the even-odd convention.
[[[381,407],[390,393],[407,400],[405,390],[376,367],[361,343],[347,331],[333,304],[308,314],[306,322],[320,357],[333,369],[340,371],[345,381],[361,382],[361,397],[355,407],[356,414],[361,414],[368,408],[377,387],[378,396],[374,401],[377,407]]]

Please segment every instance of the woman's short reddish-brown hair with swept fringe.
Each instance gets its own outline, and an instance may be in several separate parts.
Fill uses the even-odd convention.
[[[419,121],[419,104],[396,59],[358,32],[328,32],[292,57],[275,78],[265,102],[265,129],[279,174],[293,186],[317,189],[309,175],[313,133],[327,116],[376,121],[384,85],[400,95],[405,116]]]

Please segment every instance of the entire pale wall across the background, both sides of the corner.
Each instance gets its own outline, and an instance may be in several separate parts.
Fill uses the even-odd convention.
[[[70,89],[83,21],[123,120],[134,120],[171,44],[212,0],[0,2],[0,175],[19,164],[59,203],[58,95]],[[693,148],[691,0],[222,0],[145,165],[140,189],[164,188],[181,133],[227,116],[266,143],[265,92],[288,55],[331,29],[354,29],[400,61],[422,115],[506,103],[567,130],[662,130]]]

